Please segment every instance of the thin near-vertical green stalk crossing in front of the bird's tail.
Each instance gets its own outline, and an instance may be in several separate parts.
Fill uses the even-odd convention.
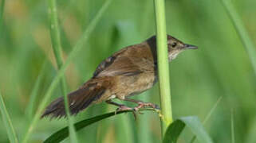
[[[57,61],[57,68],[60,69],[63,62],[62,62],[62,55],[61,55],[61,37],[59,32],[59,25],[57,19],[57,6],[55,0],[48,0],[49,5],[49,19],[50,19],[50,34],[52,40],[52,48],[55,59]],[[67,114],[68,122],[69,122],[69,133],[70,133],[70,141],[73,143],[77,143],[77,135],[76,130],[73,126],[73,118],[69,112],[69,101],[67,97],[67,84],[65,82],[65,76],[61,79],[61,90],[62,95],[64,96],[65,102],[65,112]]]

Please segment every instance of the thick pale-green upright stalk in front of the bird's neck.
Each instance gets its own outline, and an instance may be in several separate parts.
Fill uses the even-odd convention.
[[[155,14],[156,14],[156,42],[157,42],[157,64],[160,80],[160,101],[161,114],[163,118],[162,136],[172,122],[171,110],[171,86],[169,77],[169,64],[167,56],[167,33],[165,20],[165,3],[164,0],[155,0]]]

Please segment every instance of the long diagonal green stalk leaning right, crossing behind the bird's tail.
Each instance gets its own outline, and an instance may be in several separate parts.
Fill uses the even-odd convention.
[[[93,32],[93,29],[96,27],[96,24],[98,21],[100,21],[100,17],[104,14],[104,11],[107,10],[109,4],[112,2],[112,0],[107,0],[104,2],[104,5],[100,8],[99,12],[96,14],[96,16],[93,18],[93,21],[89,24],[88,28],[85,30],[85,33],[83,33],[81,39],[77,42],[75,47],[73,48],[73,51],[70,52],[67,60],[65,61],[65,64],[63,64],[60,68],[60,70],[57,72],[57,75],[53,79],[53,82],[50,84],[48,90],[46,91],[45,97],[41,99],[41,104],[38,106],[37,112],[35,116],[33,117],[33,121],[30,124],[30,127],[28,128],[26,135],[23,139],[23,142],[27,142],[34,127],[36,126],[40,115],[42,114],[42,111],[45,108],[46,103],[49,101],[50,95],[52,95],[53,90],[57,87],[57,83],[60,81],[61,77],[64,75],[65,70],[68,68],[70,62],[73,60],[74,57],[76,57],[79,54],[79,51],[81,50],[82,46],[85,44],[85,41],[88,40],[89,35]]]

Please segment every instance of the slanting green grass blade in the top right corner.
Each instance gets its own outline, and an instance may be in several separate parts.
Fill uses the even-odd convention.
[[[246,52],[248,53],[250,62],[254,69],[254,74],[256,75],[256,48],[251,41],[250,36],[247,33],[244,25],[242,24],[241,18],[238,16],[236,10],[234,9],[232,2],[230,0],[222,0],[222,3],[226,10],[226,13],[230,17],[230,20],[234,25],[235,30],[238,33],[238,36],[242,41],[242,44],[246,48]]]

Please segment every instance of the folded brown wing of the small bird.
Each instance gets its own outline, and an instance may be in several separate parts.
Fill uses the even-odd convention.
[[[116,52],[101,62],[93,77],[114,75],[137,75],[142,72],[153,72],[154,62],[149,48],[130,46]]]

